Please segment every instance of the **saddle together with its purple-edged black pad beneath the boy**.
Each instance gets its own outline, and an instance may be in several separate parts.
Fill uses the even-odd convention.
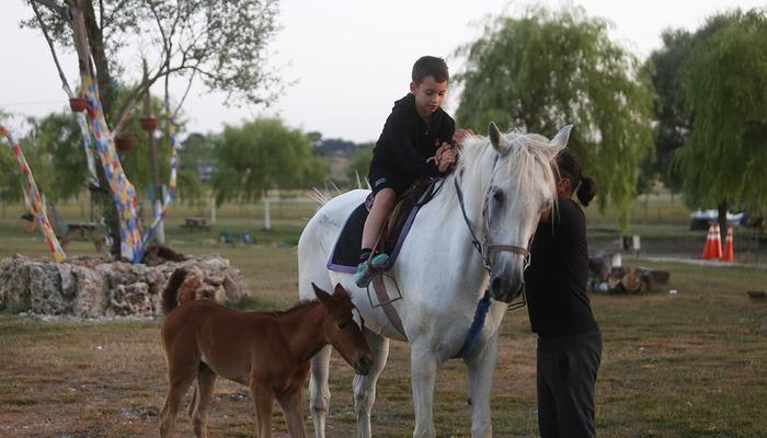
[[[394,209],[381,227],[378,243],[374,249],[389,255],[389,266],[397,260],[415,215],[439,191],[442,181],[442,178],[421,178],[397,199]],[[371,206],[373,194],[348,216],[328,261],[328,269],[354,274],[359,263],[363,228]]]

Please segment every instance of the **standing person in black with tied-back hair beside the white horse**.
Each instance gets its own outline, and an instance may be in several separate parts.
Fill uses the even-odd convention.
[[[602,332],[586,295],[588,246],[583,206],[596,185],[569,150],[557,157],[558,199],[541,216],[525,270],[527,309],[538,334],[538,427],[541,438],[594,437],[594,387]]]

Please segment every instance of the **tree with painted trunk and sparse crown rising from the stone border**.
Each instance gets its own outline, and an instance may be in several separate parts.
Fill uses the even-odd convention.
[[[89,101],[91,123],[102,126],[93,128],[102,164],[96,166],[101,191],[94,195],[104,207],[106,231],[114,242],[111,253],[138,263],[146,239],[138,232],[134,187],[119,159],[108,155],[112,132],[119,131],[139,97],[161,78],[168,102],[171,76],[186,76],[187,92],[194,78],[201,77],[208,88],[225,91],[229,97],[239,96],[250,103],[267,101],[262,93],[264,85],[275,83],[275,79],[266,72],[263,59],[266,42],[276,28],[276,0],[122,0],[108,4],[93,0],[28,1],[35,16],[25,24],[43,32],[70,97],[75,93],[58,62],[56,42],[78,55],[80,93]],[[142,51],[144,69],[138,85],[117,111],[113,108],[113,83],[115,71],[121,69],[115,66],[126,48]],[[158,59],[153,69],[148,67],[151,57]],[[169,108],[173,116],[176,112]],[[113,172],[117,177],[104,176]],[[108,201],[110,194],[113,203]]]

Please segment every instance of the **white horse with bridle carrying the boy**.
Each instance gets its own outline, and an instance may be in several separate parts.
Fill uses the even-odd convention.
[[[354,378],[360,437],[370,437],[376,380],[386,365],[389,338],[410,343],[415,406],[413,437],[435,436],[432,407],[437,368],[461,349],[485,288],[494,300],[491,300],[473,348],[463,360],[469,370],[471,436],[492,436],[490,390],[499,326],[506,303],[520,293],[527,245],[540,212],[554,200],[556,174],[551,164],[566,146],[570,126],[551,141],[535,134],[502,134],[492,123],[489,131],[489,139],[477,136],[463,141],[456,171],[445,177],[434,199],[421,208],[388,273],[401,290],[402,299],[392,306],[400,315],[407,339],[380,307],[370,304],[367,291],[354,285],[351,274],[325,267],[346,218],[369,192],[352,191],[331,199],[301,233],[298,243],[300,297],[313,297],[312,281],[324,289],[341,283],[353,295],[354,304],[365,318],[374,365],[367,376]],[[462,194],[462,203],[459,194]],[[472,235],[483,254],[472,244]],[[389,291],[397,290],[390,278],[385,281]],[[317,438],[325,436],[330,354],[331,348],[325,347],[311,361],[309,389]]]

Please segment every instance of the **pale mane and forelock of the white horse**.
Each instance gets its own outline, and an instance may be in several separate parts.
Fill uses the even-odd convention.
[[[538,134],[522,134],[510,131],[503,134],[507,143],[506,153],[502,154],[505,166],[500,166],[493,177],[516,178],[519,193],[529,193],[535,187],[535,170],[540,164],[543,171],[543,183],[549,193],[548,201],[553,204],[557,194],[557,175],[554,157],[561,147],[552,146],[549,140]],[[491,182],[490,170],[493,166],[495,150],[490,139],[484,136],[470,136],[459,147],[458,166],[454,175],[461,178],[461,189],[467,199],[483,200]],[[450,184],[451,185],[451,184]],[[448,196],[447,203],[458,203],[455,196]],[[453,206],[449,206],[453,207]]]

